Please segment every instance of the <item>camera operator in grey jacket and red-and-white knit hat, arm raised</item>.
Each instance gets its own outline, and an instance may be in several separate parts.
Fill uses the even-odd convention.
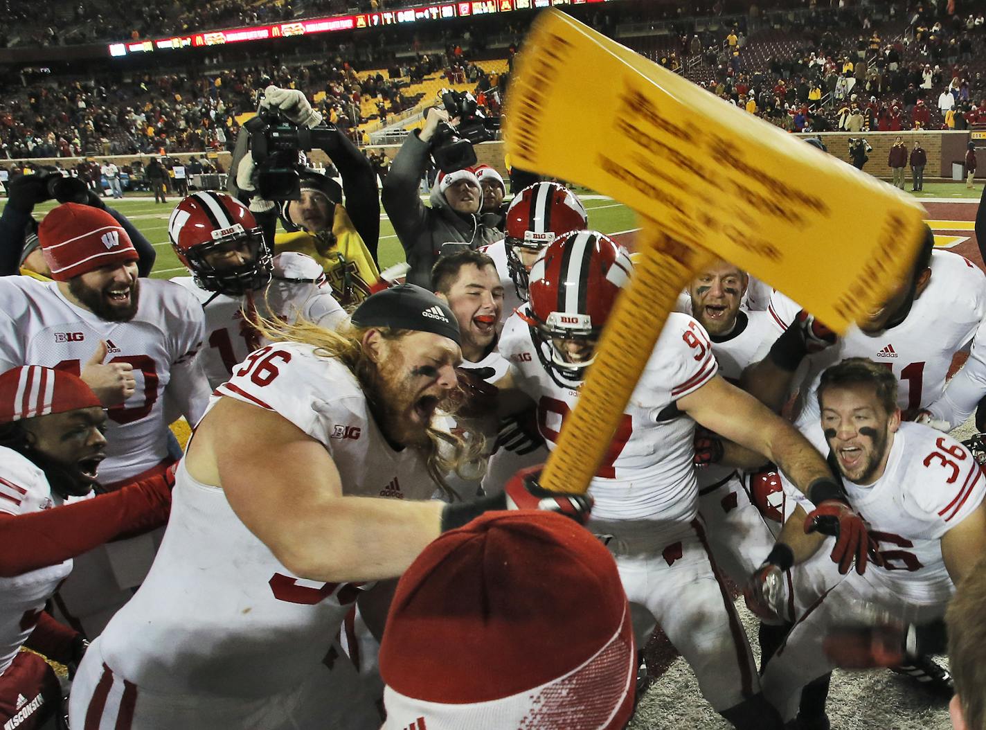
[[[408,135],[393,158],[381,193],[384,209],[410,265],[407,281],[426,287],[444,244],[463,243],[478,249],[503,238],[503,231],[496,227],[500,216],[480,212],[482,190],[467,170],[440,175],[440,182],[432,188],[431,207],[418,197],[418,182],[428,164],[436,132],[442,122],[450,120],[455,126],[456,120],[448,110],[428,110],[424,128]]]

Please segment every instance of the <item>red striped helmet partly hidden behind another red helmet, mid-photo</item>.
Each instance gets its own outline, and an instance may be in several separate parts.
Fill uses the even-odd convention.
[[[507,267],[517,295],[528,301],[528,270],[522,251],[533,255],[569,231],[589,227],[586,208],[575,193],[558,183],[528,185],[507,209]]]

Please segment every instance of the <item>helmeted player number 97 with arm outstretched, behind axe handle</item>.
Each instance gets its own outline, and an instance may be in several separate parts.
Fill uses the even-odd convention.
[[[601,328],[631,269],[627,252],[602,234],[567,234],[538,257],[528,306],[504,328],[500,352],[511,370],[498,385],[519,388],[537,404],[549,449],[578,401]],[[829,498],[837,487],[804,437],[717,371],[705,329],[671,313],[590,486],[596,504],[590,529],[616,557],[638,638],[660,624],[727,720],[740,728],[780,727],[759,693],[749,646],[698,516],[695,423],[776,461],[815,498],[824,494],[826,510],[863,526]],[[847,530],[843,538],[849,537]]]

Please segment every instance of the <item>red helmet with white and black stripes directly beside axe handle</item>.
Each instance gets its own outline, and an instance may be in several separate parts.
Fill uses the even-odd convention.
[[[599,333],[632,270],[626,249],[598,231],[567,233],[534,261],[522,316],[541,364],[562,388],[593,364]]]

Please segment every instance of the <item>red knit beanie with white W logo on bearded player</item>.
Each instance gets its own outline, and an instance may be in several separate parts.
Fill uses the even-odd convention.
[[[37,239],[55,281],[138,258],[116,219],[90,205],[62,203],[54,208],[37,227]]]

